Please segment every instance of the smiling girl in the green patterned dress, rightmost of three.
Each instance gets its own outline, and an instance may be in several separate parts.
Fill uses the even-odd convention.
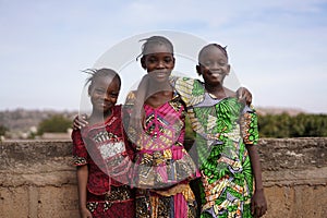
[[[222,85],[230,72],[226,48],[205,46],[196,70],[204,83],[175,77],[173,84],[196,134],[201,217],[261,217],[267,203],[256,149],[256,112]]]

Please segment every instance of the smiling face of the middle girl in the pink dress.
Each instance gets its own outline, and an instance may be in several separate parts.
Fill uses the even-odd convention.
[[[174,68],[174,58],[171,49],[166,45],[150,45],[146,55],[142,58],[142,66],[150,75],[150,80],[157,83],[168,81]]]

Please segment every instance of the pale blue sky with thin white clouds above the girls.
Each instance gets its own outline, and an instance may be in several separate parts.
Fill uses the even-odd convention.
[[[123,40],[169,31],[228,46],[256,107],[327,113],[326,0],[0,0],[0,110],[78,110],[81,70]]]

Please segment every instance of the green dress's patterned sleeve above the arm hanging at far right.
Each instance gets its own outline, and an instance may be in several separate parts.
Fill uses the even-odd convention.
[[[241,131],[246,145],[258,143],[257,114],[253,107],[245,107],[241,117]]]

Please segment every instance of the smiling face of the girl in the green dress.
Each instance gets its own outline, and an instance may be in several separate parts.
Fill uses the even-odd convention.
[[[215,86],[222,85],[226,75],[230,72],[230,65],[226,53],[211,45],[202,51],[196,70],[207,85]]]

